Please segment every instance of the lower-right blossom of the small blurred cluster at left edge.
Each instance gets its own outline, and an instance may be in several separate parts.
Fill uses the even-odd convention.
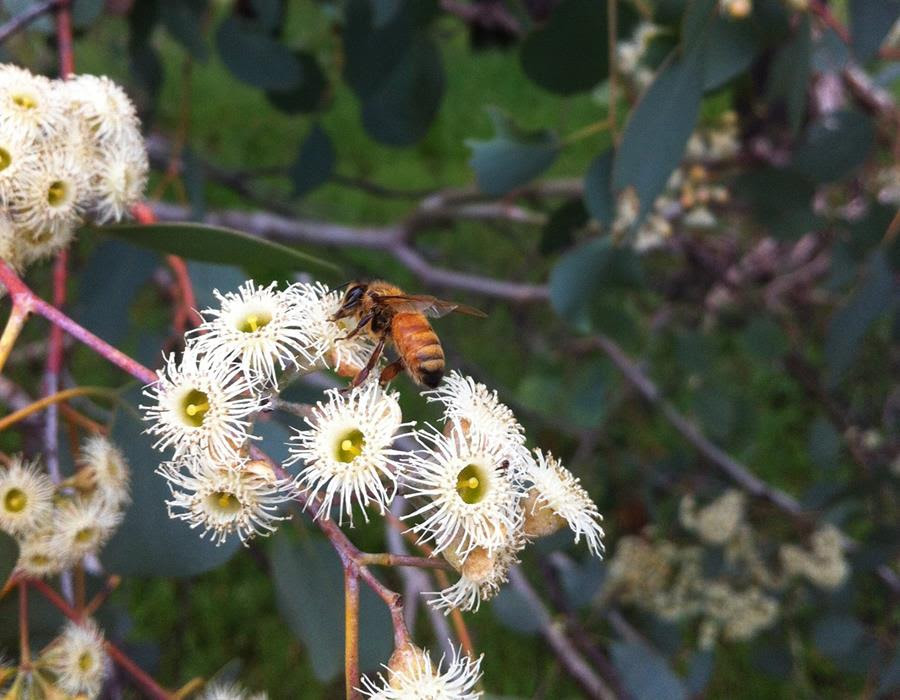
[[[96,554],[120,522],[122,511],[102,498],[66,499],[53,511],[49,550],[59,559],[77,562],[88,554]]]

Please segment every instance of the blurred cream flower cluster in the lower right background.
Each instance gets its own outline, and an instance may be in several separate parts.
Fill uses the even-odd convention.
[[[842,539],[832,527],[813,534],[812,551],[782,545],[780,571],[768,564],[746,521],[745,497],[734,489],[702,508],[693,496],[685,496],[679,517],[700,545],[680,545],[652,530],[643,537],[621,538],[604,594],[666,620],[698,619],[702,648],[718,639],[751,639],[771,627],[782,614],[782,593],[798,577],[823,590],[846,580]],[[717,550],[724,566],[711,574],[704,562]]]

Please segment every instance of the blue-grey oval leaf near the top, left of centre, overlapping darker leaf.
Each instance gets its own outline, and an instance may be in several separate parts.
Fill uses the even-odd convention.
[[[216,30],[222,62],[238,80],[263,90],[289,91],[300,86],[300,61],[284,44],[237,17],[226,18]]]

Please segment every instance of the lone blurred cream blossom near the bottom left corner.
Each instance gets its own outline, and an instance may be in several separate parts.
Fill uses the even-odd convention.
[[[63,692],[97,698],[109,670],[103,633],[93,620],[68,622],[37,665],[55,676]]]

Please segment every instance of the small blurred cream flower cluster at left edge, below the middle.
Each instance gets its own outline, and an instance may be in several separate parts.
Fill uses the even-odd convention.
[[[100,436],[81,445],[79,469],[60,484],[14,457],[0,470],[0,529],[19,543],[17,569],[44,577],[96,554],[122,519],[128,482],[122,453]]]

